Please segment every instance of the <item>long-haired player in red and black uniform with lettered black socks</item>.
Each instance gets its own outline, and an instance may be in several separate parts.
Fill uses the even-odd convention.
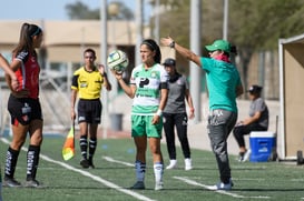
[[[24,187],[38,188],[36,180],[42,144],[42,111],[39,101],[39,73],[36,48],[40,48],[43,39],[42,29],[36,24],[23,23],[17,48],[12,51],[10,68],[14,71],[19,84],[18,90],[11,88],[8,110],[11,115],[12,141],[9,145],[4,167],[4,187],[20,187],[14,179],[14,171],[20,149],[29,133],[27,153],[27,181]],[[11,78],[6,77],[10,86]]]

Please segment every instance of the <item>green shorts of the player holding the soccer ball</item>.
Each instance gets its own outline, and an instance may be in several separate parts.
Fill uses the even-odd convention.
[[[163,119],[151,124],[153,115],[131,115],[131,137],[161,138]]]

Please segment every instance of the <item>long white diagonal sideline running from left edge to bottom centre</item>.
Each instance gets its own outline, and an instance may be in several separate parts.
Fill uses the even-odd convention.
[[[10,142],[9,142],[7,139],[4,139],[4,138],[1,138],[1,141],[4,142],[4,143],[7,143],[7,144],[10,143]],[[22,150],[23,150],[23,151],[27,151],[28,149],[24,148],[24,147],[22,147]],[[63,168],[66,168],[66,169],[68,169],[68,170],[71,170],[71,171],[78,172],[78,173],[80,173],[80,174],[82,174],[82,175],[86,175],[86,177],[88,177],[88,178],[91,178],[91,179],[95,180],[95,181],[98,181],[98,182],[100,182],[100,183],[102,183],[102,184],[105,184],[105,185],[107,185],[107,187],[109,187],[109,188],[112,188],[112,189],[117,190],[117,191],[120,191],[120,192],[124,192],[124,193],[126,193],[126,194],[129,194],[129,195],[131,195],[131,197],[134,197],[134,198],[136,198],[136,199],[138,199],[138,200],[155,201],[155,200],[151,200],[151,199],[149,199],[149,198],[147,198],[147,197],[144,197],[144,195],[137,193],[137,192],[134,192],[134,191],[130,191],[130,190],[127,190],[127,189],[122,189],[122,187],[119,187],[119,185],[117,185],[117,184],[115,184],[115,183],[111,183],[111,182],[109,182],[109,181],[107,181],[107,180],[105,180],[105,179],[102,179],[102,178],[100,178],[100,177],[94,175],[94,174],[91,174],[91,173],[89,173],[89,172],[87,172],[87,171],[84,171],[84,170],[73,168],[73,167],[71,167],[71,165],[69,165],[69,164],[67,164],[67,163],[65,163],[65,162],[56,161],[56,160],[53,160],[53,159],[51,159],[51,158],[49,158],[49,157],[47,157],[47,155],[45,155],[45,154],[40,154],[40,159],[43,159],[45,161],[48,161],[48,162],[52,162],[52,163],[59,164],[59,165],[61,165],[61,167],[63,167]]]

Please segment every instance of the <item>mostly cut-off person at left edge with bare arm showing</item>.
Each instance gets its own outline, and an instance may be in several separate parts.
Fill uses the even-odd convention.
[[[14,72],[10,69],[9,62],[6,60],[6,58],[0,53],[0,68],[4,70],[4,72],[10,77],[11,83],[10,88],[12,91],[16,91],[19,88],[19,82],[17,80],[17,77]],[[0,201],[2,201],[2,174],[0,169]]]

